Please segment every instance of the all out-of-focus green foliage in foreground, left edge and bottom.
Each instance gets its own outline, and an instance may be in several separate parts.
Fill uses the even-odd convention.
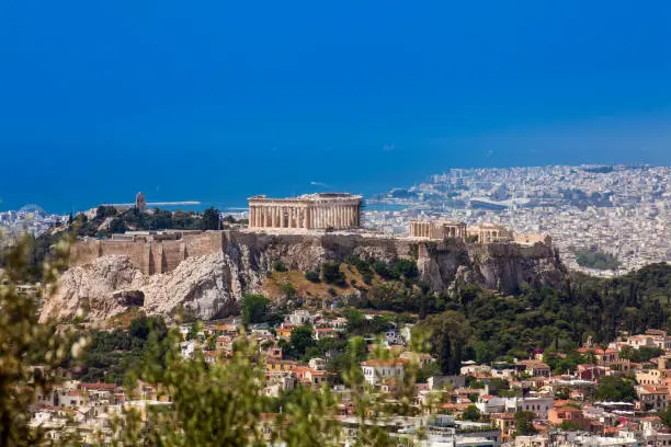
[[[39,295],[50,293],[58,272],[67,263],[68,243],[54,247],[44,265],[42,293],[21,293],[30,266],[30,242],[21,241],[7,256],[0,273],[0,445],[81,445],[76,431],[65,429],[60,439],[48,439],[39,427],[31,427],[31,405],[36,394],[57,382],[59,365],[81,358],[89,340],[75,336],[71,328],[37,321]],[[30,276],[30,275],[29,275]],[[136,376],[127,380],[128,393],[141,379],[157,387],[164,404],[133,405],[128,402],[101,433],[98,444],[113,446],[260,446],[283,442],[287,446],[339,445],[340,399],[327,386],[299,388],[276,402],[263,396],[265,369],[258,347],[242,335],[231,358],[209,364],[202,355],[181,358],[179,331],[153,328],[147,337],[147,355]],[[362,344],[354,337],[350,343]],[[351,346],[360,352],[364,346]],[[377,358],[388,351],[377,348]],[[354,445],[386,446],[391,439],[380,422],[398,415],[414,415],[411,405],[417,367],[410,365],[399,383],[397,399],[372,392],[355,357],[343,365],[342,378],[351,390],[350,417],[356,423]],[[274,412],[273,412],[274,411]]]

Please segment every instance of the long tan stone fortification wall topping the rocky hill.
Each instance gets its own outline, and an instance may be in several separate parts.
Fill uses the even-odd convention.
[[[513,242],[466,243],[452,238],[417,241],[372,234],[265,233],[260,231],[206,231],[179,240],[82,241],[75,248],[75,263],[100,256],[127,256],[144,274],[174,271],[189,257],[220,253],[232,267],[240,290],[258,288],[265,273],[282,262],[291,270],[318,271],[323,262],[342,262],[349,255],[364,260],[416,260],[420,275],[432,289],[455,280],[480,283],[514,291],[522,283],[559,285],[561,264],[551,244]]]

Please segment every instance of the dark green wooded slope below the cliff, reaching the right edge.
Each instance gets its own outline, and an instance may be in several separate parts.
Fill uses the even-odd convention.
[[[510,296],[470,284],[430,293],[417,275],[389,275],[394,265],[379,262],[363,266],[350,259],[339,270],[342,287],[309,282],[300,272],[273,272],[264,289],[272,298],[288,290],[289,300],[328,297],[329,288],[340,295],[357,291],[341,305],[391,311],[403,320],[419,316],[418,331],[432,332],[432,340],[447,333],[453,355],[477,362],[527,357],[537,348],[570,352],[589,336],[606,343],[623,331],[671,330],[671,266],[663,263],[611,279],[575,274],[561,289],[527,286]],[[431,349],[440,354],[437,343]]]

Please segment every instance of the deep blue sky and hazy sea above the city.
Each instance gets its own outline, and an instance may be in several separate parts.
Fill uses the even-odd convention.
[[[671,163],[664,1],[0,3],[0,209]]]

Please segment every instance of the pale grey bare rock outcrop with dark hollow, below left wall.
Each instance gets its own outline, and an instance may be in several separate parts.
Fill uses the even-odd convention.
[[[177,312],[211,320],[235,313],[241,296],[236,268],[221,254],[190,257],[171,273],[147,276],[125,256],[103,256],[68,270],[41,320],[86,316],[101,322],[130,307],[148,314]]]

